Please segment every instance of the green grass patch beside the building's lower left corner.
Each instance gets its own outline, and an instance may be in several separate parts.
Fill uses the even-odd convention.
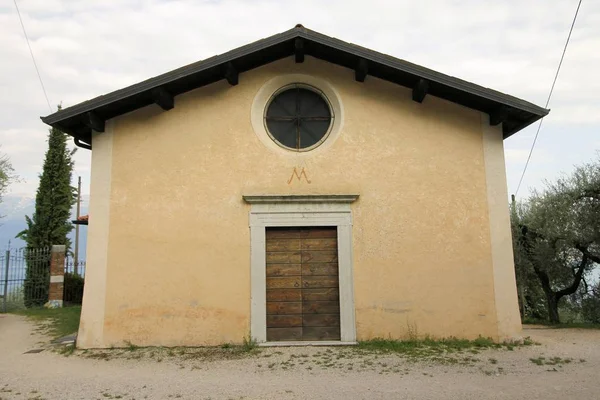
[[[41,327],[43,333],[57,339],[77,332],[81,306],[63,308],[28,308],[16,311],[15,314],[24,315]]]

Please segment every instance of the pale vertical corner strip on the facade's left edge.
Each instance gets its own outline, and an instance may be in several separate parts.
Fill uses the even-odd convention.
[[[78,348],[106,347],[104,314],[110,228],[113,128],[114,121],[111,120],[106,122],[104,132],[92,133],[90,222],[88,225],[85,288],[81,322],[77,334]]]

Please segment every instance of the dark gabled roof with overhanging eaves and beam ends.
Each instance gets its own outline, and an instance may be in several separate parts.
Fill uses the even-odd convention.
[[[491,124],[503,123],[505,138],[549,112],[525,100],[296,25],[266,39],[62,109],[42,117],[42,121],[74,136],[77,144],[91,143],[91,129],[104,131],[104,121],[110,118],[153,103],[171,109],[174,96],[221,79],[236,85],[239,73],[292,55],[296,62],[310,55],[350,68],[361,82],[370,75],[411,88],[413,100],[418,102],[429,94],[483,111],[490,114]]]

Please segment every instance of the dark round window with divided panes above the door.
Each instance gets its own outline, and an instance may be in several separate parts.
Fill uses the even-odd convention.
[[[307,151],[320,145],[333,125],[333,112],[325,96],[307,85],[286,86],[271,97],[265,126],[280,146]]]

